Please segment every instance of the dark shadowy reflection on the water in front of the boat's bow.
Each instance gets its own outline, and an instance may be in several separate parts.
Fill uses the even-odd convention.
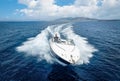
[[[53,65],[48,75],[49,81],[80,81],[79,76],[71,66]]]

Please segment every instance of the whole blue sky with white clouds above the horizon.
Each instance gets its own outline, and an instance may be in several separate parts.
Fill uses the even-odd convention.
[[[0,21],[120,19],[120,0],[0,0]]]

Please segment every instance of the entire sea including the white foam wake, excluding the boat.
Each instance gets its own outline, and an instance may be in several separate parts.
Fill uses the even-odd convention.
[[[56,32],[79,48],[76,64],[50,55]],[[120,81],[120,21],[0,22],[0,81]]]

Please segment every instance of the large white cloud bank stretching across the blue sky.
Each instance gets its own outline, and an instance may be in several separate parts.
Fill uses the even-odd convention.
[[[120,19],[120,0],[75,0],[71,5],[59,6],[55,0],[19,0],[27,7],[19,13],[28,18],[52,20],[64,17]]]

